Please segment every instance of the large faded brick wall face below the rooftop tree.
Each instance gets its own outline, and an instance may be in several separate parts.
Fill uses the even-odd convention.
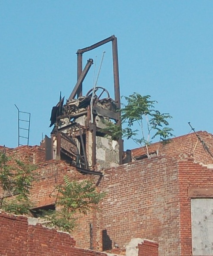
[[[100,188],[102,229],[120,248],[133,237],[159,242],[159,255],[179,255],[179,184],[176,159],[144,159],[105,171]]]

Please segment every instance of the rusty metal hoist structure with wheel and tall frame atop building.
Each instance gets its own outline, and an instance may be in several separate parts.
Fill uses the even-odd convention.
[[[110,97],[104,87],[99,86],[94,86],[83,96],[83,80],[93,65],[93,59],[88,59],[83,69],[83,53],[108,42],[112,43],[114,98]],[[64,104],[64,97],[60,95],[59,103],[52,108],[52,158],[64,159],[77,168],[90,172],[103,169],[101,162],[107,162],[108,159],[109,166],[122,163],[123,141],[121,138],[111,140],[110,134],[106,138],[106,133],[102,130],[105,122],[113,121],[116,125],[121,125],[118,109],[120,85],[117,38],[112,35],[90,47],[77,50],[77,83],[66,103]],[[115,151],[111,152],[113,150]]]

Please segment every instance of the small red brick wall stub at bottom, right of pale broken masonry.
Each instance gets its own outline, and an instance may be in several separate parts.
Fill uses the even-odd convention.
[[[158,256],[158,244],[154,241],[143,240],[142,244],[138,245],[138,256]]]

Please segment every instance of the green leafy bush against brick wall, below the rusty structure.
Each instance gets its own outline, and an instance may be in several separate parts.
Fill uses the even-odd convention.
[[[76,214],[87,214],[96,209],[104,197],[103,193],[96,190],[92,181],[71,181],[68,176],[64,177],[64,184],[57,186],[56,190],[56,205],[59,210],[46,212],[45,225],[62,231],[72,231],[76,224]]]

